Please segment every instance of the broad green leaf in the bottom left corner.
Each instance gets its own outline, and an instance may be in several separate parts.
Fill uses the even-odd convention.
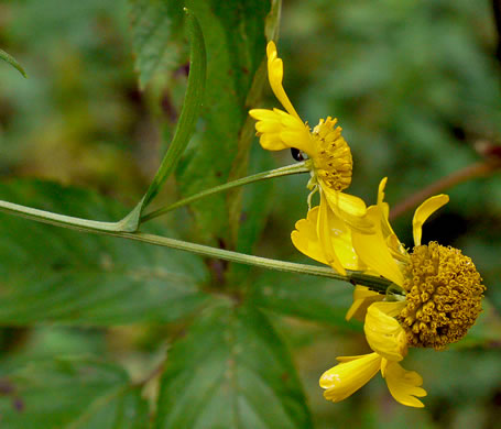
[[[142,429],[148,404],[127,373],[84,359],[36,362],[0,378],[2,429]]]

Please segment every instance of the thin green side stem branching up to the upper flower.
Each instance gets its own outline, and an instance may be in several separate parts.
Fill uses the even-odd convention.
[[[149,220],[157,218],[162,215],[165,215],[179,207],[186,206],[198,199],[208,197],[209,195],[221,193],[224,190],[236,188],[238,186],[248,185],[248,184],[251,184],[253,182],[259,182],[259,180],[266,180],[266,179],[270,179],[273,177],[288,176],[291,174],[308,173],[309,168],[308,168],[307,163],[308,163],[308,161],[303,161],[302,163],[298,163],[298,164],[286,165],[285,167],[280,167],[280,168],[271,169],[269,172],[258,173],[252,176],[247,176],[247,177],[243,177],[243,178],[240,178],[237,180],[228,182],[227,184],[216,186],[216,187],[207,189],[207,190],[203,190],[202,193],[192,195],[190,197],[176,201],[171,206],[163,207],[155,211],[151,211],[148,215],[144,215],[143,217],[141,217],[141,223],[148,222]]]

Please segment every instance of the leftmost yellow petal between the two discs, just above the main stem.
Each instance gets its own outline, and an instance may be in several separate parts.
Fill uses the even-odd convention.
[[[301,219],[296,222],[296,229],[292,231],[291,239],[299,252],[328,265],[317,235],[318,209],[318,206],[314,207],[308,211],[306,219]]]

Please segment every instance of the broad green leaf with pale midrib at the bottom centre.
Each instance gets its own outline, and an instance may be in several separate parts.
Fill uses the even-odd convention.
[[[312,428],[291,356],[259,310],[207,309],[174,344],[156,429]]]

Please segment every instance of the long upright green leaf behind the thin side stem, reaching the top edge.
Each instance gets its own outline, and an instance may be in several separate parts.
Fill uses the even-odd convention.
[[[221,2],[189,0],[200,21],[207,46],[207,90],[203,134],[188,146],[176,172],[179,190],[189,196],[244,174],[253,122],[246,105],[249,92],[260,94],[254,75],[264,59],[264,18],[270,0]],[[251,91],[251,92],[252,92]],[[204,242],[235,249],[240,191],[200,200],[190,206]]]

